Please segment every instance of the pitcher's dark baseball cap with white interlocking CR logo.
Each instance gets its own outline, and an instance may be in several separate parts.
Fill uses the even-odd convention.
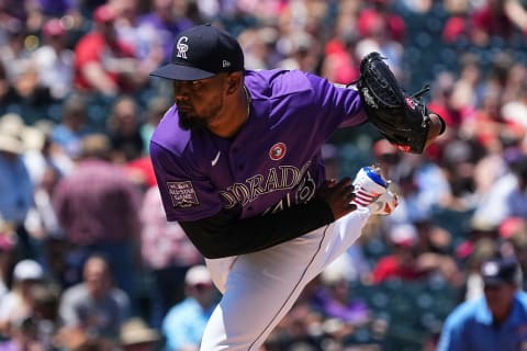
[[[244,52],[236,38],[211,24],[203,24],[182,31],[173,44],[170,64],[150,76],[199,80],[239,70],[244,70]]]

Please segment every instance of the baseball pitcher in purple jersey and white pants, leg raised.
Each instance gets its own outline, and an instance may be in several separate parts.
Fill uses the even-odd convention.
[[[335,131],[372,122],[412,152],[442,132],[379,55],[361,73],[344,87],[296,70],[245,70],[237,41],[211,25],[181,32],[171,63],[152,73],[173,84],[175,104],[150,141],[167,219],[180,223],[223,294],[201,350],[258,350],[367,219],[396,206],[375,169],[326,180],[321,147]]]

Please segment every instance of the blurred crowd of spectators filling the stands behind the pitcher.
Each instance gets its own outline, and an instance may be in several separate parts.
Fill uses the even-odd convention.
[[[205,22],[248,69],[347,84],[380,52],[448,125],[424,155],[368,125],[329,140],[328,177],[377,162],[401,203],[265,351],[435,350],[482,262],[527,269],[527,1],[0,0],[0,350],[199,350],[218,294],[165,219],[148,141],[171,86],[148,73]]]

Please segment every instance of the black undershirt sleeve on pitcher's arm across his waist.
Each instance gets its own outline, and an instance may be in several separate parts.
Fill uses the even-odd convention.
[[[221,212],[179,224],[205,258],[217,259],[259,251],[334,220],[329,205],[315,196],[305,204],[265,216],[239,219],[233,213]]]

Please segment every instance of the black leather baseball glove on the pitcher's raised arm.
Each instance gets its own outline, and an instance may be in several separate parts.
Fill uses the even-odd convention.
[[[360,63],[357,88],[369,121],[399,149],[422,154],[425,149],[430,118],[421,95],[407,95],[379,53],[370,53]]]

